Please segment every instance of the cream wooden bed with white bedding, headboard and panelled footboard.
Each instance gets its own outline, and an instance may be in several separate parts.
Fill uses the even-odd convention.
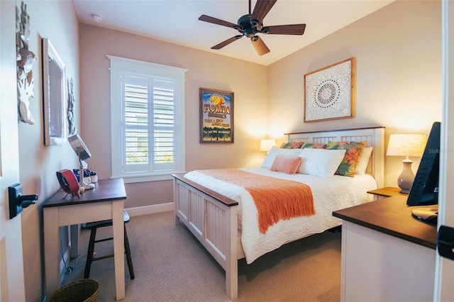
[[[333,141],[365,142],[365,147],[372,147],[373,151],[365,164],[364,174],[355,177],[334,175],[324,178],[301,173],[272,172],[265,165],[270,155],[267,155],[262,165],[264,167],[240,169],[257,175],[300,181],[309,184],[312,189],[315,215],[279,220],[265,234],[259,232],[257,223],[248,218],[250,215],[257,216],[254,213],[257,210],[254,210],[252,197],[244,189],[207,176],[204,171],[173,175],[175,223],[186,225],[226,271],[226,293],[231,300],[238,297],[238,259],[245,257],[251,263],[287,242],[341,225],[341,220],[334,218],[332,211],[371,201],[372,196],[366,192],[383,184],[384,127],[286,135],[289,143],[326,145]],[[329,183],[333,183],[332,189],[326,189]],[[350,191],[348,188],[357,190]],[[344,197],[341,197],[341,192],[345,193]],[[329,206],[326,206],[328,201]]]

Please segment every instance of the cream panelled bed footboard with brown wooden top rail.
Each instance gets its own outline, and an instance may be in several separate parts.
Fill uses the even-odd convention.
[[[174,177],[175,223],[183,223],[226,271],[229,299],[238,297],[238,202],[182,175]]]

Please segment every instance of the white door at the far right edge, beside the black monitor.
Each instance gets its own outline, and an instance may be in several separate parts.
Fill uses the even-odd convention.
[[[442,64],[443,119],[441,123],[440,201],[438,228],[454,228],[454,2],[443,0]],[[454,297],[454,260],[437,253],[433,301],[452,301]]]

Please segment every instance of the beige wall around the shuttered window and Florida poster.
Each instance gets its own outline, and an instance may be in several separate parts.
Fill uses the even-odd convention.
[[[87,160],[101,179],[111,176],[110,74],[106,55],[188,69],[185,84],[186,169],[258,165],[267,128],[267,69],[241,60],[139,35],[82,24],[79,30],[81,133]],[[234,93],[234,143],[199,143],[199,88]],[[172,181],[126,184],[126,208],[173,201]]]

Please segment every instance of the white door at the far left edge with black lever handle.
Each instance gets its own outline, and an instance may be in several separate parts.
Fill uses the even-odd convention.
[[[16,1],[0,1],[0,301],[25,301],[21,215],[9,219],[8,187],[19,181]]]

